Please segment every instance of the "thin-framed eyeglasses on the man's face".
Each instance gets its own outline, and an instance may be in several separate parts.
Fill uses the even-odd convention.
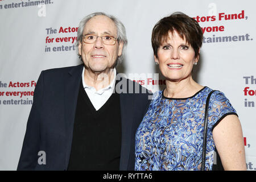
[[[82,36],[82,41],[87,44],[93,44],[96,42],[98,38],[101,38],[102,42],[106,45],[114,45],[115,42],[117,41],[117,38],[114,38],[113,36],[110,36],[110,35],[96,36],[93,34],[86,34]]]

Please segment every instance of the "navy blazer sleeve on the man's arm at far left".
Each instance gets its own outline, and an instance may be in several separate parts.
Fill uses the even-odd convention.
[[[17,170],[34,170],[38,164],[40,150],[40,110],[44,94],[44,72],[42,71],[35,86],[33,104],[27,121],[26,134]]]

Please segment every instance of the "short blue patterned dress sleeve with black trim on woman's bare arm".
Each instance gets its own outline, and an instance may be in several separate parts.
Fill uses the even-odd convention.
[[[214,127],[226,117],[226,115],[235,114],[237,111],[230,104],[228,98],[224,93],[216,91],[210,96],[209,111],[208,111],[208,125],[209,129],[213,131]],[[237,115],[238,116],[238,115]]]

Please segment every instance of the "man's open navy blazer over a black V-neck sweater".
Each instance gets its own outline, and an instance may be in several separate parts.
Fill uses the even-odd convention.
[[[18,170],[68,168],[82,68],[81,64],[76,67],[48,69],[40,74]],[[131,80],[126,81],[137,84]],[[142,88],[141,85],[139,87]],[[134,170],[135,133],[150,103],[148,95],[134,92],[119,94],[122,119],[120,170]],[[39,151],[45,152],[46,164],[38,163],[42,156]]]

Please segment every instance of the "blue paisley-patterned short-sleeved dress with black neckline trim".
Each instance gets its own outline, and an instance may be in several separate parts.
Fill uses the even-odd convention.
[[[167,98],[155,92],[135,138],[135,170],[201,170],[204,112],[212,89],[205,86],[189,98]],[[236,114],[228,98],[216,91],[210,96],[205,170],[212,170],[214,126]],[[237,115],[237,114],[236,114]]]

